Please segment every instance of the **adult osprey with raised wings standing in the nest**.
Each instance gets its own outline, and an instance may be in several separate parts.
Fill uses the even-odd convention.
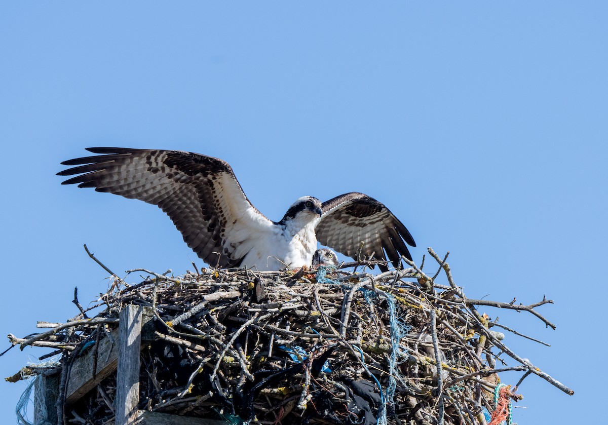
[[[77,167],[59,176],[80,174],[62,184],[78,183],[158,206],[185,243],[212,266],[309,266],[319,241],[355,260],[358,255],[373,256],[397,267],[401,255],[412,258],[406,243],[416,246],[406,226],[363,193],[345,193],[326,202],[303,196],[274,222],[249,202],[232,168],[221,159],[169,150],[87,150],[101,155],[61,162]]]

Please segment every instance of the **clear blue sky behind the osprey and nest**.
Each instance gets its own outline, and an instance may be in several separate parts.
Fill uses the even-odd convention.
[[[74,286],[82,303],[106,291],[83,243],[114,270],[201,264],[159,209],[54,175],[85,147],[195,151],[271,219],[364,192],[416,262],[450,251],[469,297],[555,300],[539,310],[556,331],[484,310],[549,342],[506,340],[576,391],[528,378],[515,420],[598,423],[606,22],[601,1],[2,2],[0,334],[74,316]],[[2,377],[44,353],[9,351]],[[24,388],[0,383],[4,422]]]

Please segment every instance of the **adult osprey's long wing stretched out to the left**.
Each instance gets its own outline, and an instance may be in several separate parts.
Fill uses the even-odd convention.
[[[238,266],[255,241],[271,232],[272,221],[252,206],[221,159],[182,151],[87,150],[102,155],[62,162],[77,167],[58,175],[81,174],[63,184],[78,183],[158,206],[188,246],[212,266]]]

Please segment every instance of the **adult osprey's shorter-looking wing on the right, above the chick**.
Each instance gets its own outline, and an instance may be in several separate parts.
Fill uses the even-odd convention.
[[[401,255],[412,259],[407,244],[416,246],[401,221],[381,202],[363,193],[350,192],[323,202],[323,215],[317,224],[317,240],[348,257],[389,260],[397,267]],[[363,247],[361,248],[361,244]],[[382,271],[388,268],[379,264]]]

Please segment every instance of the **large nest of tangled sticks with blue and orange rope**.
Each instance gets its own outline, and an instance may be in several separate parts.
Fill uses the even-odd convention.
[[[148,277],[136,285],[114,278],[94,319],[81,309],[71,323],[9,338],[57,348],[65,398],[74,359],[96,355],[125,305],[145,306],[154,329],[142,343],[139,409],[229,424],[485,424],[505,370],[570,391],[508,349],[491,330],[498,324],[475,308],[511,306],[553,327],[534,310],[551,300],[469,300],[434,257],[449,286],[413,263],[376,275],[365,265],[295,275],[202,269],[178,278],[138,269]],[[505,354],[517,364],[508,367]],[[115,394],[116,377],[106,378],[64,406],[65,423],[111,423]]]

